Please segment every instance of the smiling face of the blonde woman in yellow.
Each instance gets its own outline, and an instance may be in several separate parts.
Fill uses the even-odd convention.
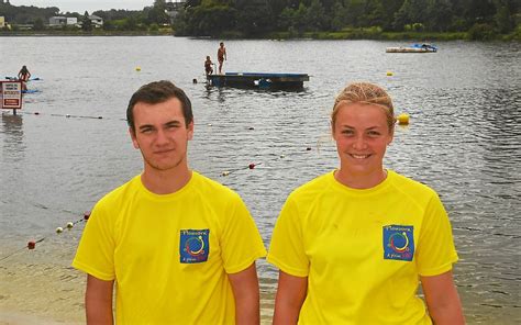
[[[340,103],[332,128],[343,172],[357,177],[381,175],[393,135],[381,107]]]

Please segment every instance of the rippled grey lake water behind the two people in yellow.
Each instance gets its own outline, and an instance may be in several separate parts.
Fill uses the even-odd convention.
[[[69,267],[84,224],[60,235],[55,228],[81,220],[141,171],[125,108],[140,86],[158,79],[192,99],[191,167],[243,197],[266,246],[287,194],[337,166],[329,137],[334,96],[354,80],[384,86],[411,121],[397,127],[386,166],[428,183],[445,203],[468,323],[519,324],[521,45],[448,42],[436,54],[385,53],[407,44],[225,41],[226,71],[311,76],[302,91],[269,92],[207,89],[203,60],[217,60],[217,40],[1,37],[0,76],[26,65],[43,80],[29,83],[40,92],[24,97],[18,115],[1,114],[0,324],[84,322],[85,276]],[[264,260],[258,270],[267,323],[277,271]]]

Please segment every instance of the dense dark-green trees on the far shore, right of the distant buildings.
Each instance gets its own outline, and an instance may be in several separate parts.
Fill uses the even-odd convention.
[[[468,32],[483,36],[520,31],[519,0],[188,0],[174,26],[178,35],[263,36],[287,31]]]

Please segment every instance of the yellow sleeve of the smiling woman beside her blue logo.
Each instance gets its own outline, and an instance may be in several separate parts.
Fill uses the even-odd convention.
[[[429,202],[419,238],[417,264],[420,276],[432,277],[452,269],[457,261],[451,222],[437,195]]]

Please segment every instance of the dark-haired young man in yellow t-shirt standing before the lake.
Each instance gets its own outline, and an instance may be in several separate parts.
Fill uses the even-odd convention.
[[[237,193],[189,169],[191,103],[170,81],[141,87],[126,119],[144,170],[104,195],[73,266],[88,273],[88,324],[258,324],[266,249]]]

